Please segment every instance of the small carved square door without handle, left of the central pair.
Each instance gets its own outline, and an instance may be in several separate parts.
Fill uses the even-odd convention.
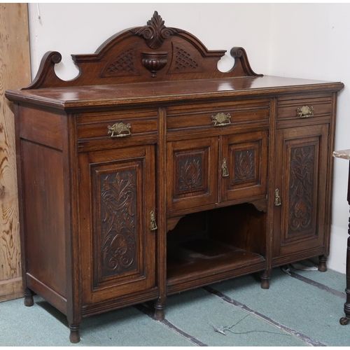
[[[168,211],[218,201],[218,137],[169,142],[167,145]]]

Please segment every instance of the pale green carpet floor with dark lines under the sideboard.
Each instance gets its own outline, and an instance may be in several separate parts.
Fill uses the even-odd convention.
[[[243,276],[169,296],[165,322],[135,307],[84,318],[78,344],[69,342],[66,317],[41,297],[33,307],[2,302],[0,346],[350,346],[350,325],[339,324],[344,297],[327,290],[344,292],[344,274],[292,271],[325,288],[278,268],[269,290]]]

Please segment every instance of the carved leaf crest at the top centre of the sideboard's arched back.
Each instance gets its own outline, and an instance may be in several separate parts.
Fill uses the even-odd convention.
[[[143,36],[149,48],[160,48],[164,43],[165,39],[169,36],[179,33],[181,29],[167,28],[164,25],[164,21],[155,11],[153,18],[147,22],[144,27],[132,29],[132,34]]]

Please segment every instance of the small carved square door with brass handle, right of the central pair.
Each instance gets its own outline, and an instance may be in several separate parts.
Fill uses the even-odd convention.
[[[222,200],[264,195],[267,189],[266,130],[222,137]]]

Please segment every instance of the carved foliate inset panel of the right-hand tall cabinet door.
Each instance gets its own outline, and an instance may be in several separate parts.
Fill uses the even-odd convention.
[[[290,153],[289,232],[310,228],[314,188],[315,146],[292,148]]]

